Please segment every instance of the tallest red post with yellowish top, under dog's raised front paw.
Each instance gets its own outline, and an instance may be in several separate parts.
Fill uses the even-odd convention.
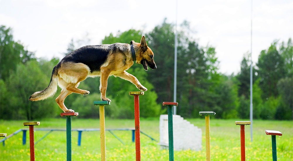
[[[129,95],[134,96],[135,158],[140,161],[139,95],[144,95],[144,92],[129,92]]]

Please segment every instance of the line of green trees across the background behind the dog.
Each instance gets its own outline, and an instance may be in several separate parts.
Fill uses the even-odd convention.
[[[219,61],[214,47],[200,46],[191,35],[189,23],[184,21],[178,31],[177,114],[183,117],[199,117],[199,111],[214,111],[217,118],[249,118],[250,65],[248,53],[243,54],[239,73],[225,75],[219,72]],[[174,24],[166,20],[153,30],[144,33],[147,44],[154,52],[156,70],[144,71],[134,64],[127,72],[133,74],[148,88],[140,97],[141,117],[158,117],[166,113],[162,102],[173,101],[174,73]],[[105,36],[102,44],[115,42],[139,42],[141,30]],[[67,52],[90,44],[90,40],[72,39]],[[36,58],[20,41],[13,40],[12,29],[0,27],[0,118],[37,119],[58,116],[55,99],[31,102],[29,96],[43,90],[50,81],[58,58]],[[258,62],[253,64],[253,117],[255,119],[292,119],[293,110],[293,44],[274,41],[261,51]],[[87,96],[71,94],[64,104],[79,112],[80,117],[96,118],[98,107],[93,101],[100,100],[99,78],[88,78],[80,84],[90,91]],[[106,115],[111,118],[133,118],[133,96],[137,91],[130,82],[110,76],[107,97],[112,100]],[[57,93],[60,92],[58,88]],[[57,97],[57,94],[54,98]]]

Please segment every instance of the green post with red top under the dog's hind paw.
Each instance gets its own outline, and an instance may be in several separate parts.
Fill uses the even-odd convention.
[[[78,112],[63,112],[60,115],[66,116],[66,152],[67,161],[71,161],[71,116],[78,116]]]

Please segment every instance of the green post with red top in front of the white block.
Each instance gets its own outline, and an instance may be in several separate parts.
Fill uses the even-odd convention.
[[[168,106],[169,161],[174,161],[173,106],[178,106],[178,103],[163,102],[163,106],[166,105]]]

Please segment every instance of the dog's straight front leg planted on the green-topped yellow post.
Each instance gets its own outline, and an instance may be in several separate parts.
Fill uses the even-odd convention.
[[[103,101],[111,102],[110,99],[106,98],[106,90],[107,90],[109,75],[110,75],[109,69],[101,69],[100,92],[101,92],[101,99]]]

